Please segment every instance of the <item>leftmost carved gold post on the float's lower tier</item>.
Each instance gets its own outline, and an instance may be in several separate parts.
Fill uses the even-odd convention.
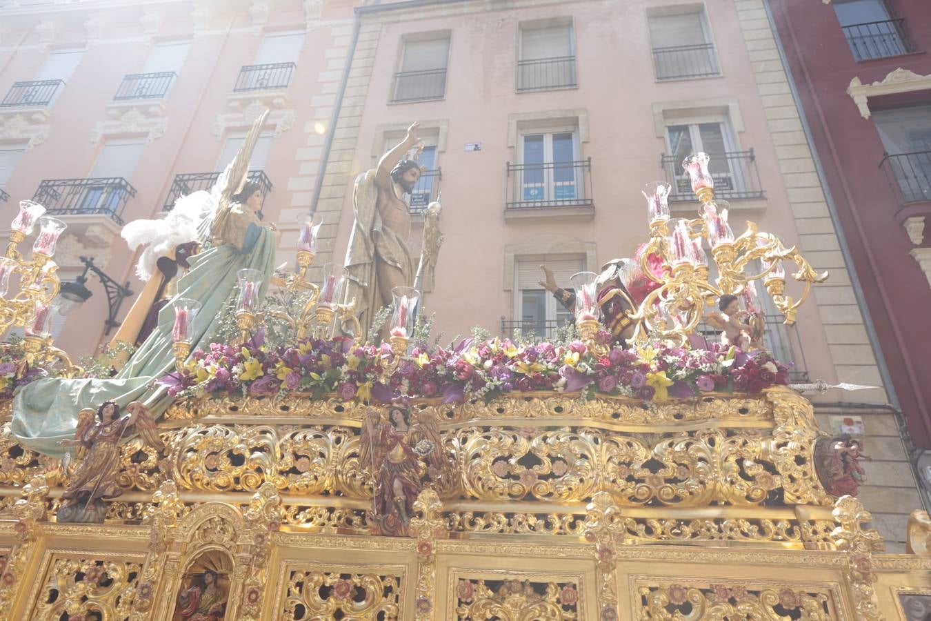
[[[35,475],[23,486],[22,497],[13,505],[16,525],[17,544],[10,550],[7,566],[0,574],[0,612],[13,610],[18,589],[28,589],[21,580],[25,577],[26,567],[33,554],[36,539],[36,523],[46,519],[46,501],[48,486],[45,475]],[[12,615],[7,618],[12,618]]]

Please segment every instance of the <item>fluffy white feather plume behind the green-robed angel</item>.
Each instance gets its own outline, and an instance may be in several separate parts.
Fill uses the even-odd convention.
[[[136,263],[136,276],[148,280],[155,273],[159,257],[169,254],[176,246],[197,240],[197,226],[209,213],[210,198],[203,190],[175,201],[174,207],[161,220],[134,220],[123,227],[120,236],[126,239],[129,250],[145,246]]]

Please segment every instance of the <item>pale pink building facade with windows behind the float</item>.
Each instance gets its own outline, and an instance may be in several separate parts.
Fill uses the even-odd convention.
[[[415,249],[419,212],[438,196],[443,205],[445,242],[425,283],[434,334],[549,335],[566,315],[537,284],[539,264],[566,286],[573,272],[630,256],[647,237],[647,182],[672,183],[673,214],[692,217],[680,163],[706,151],[735,231],[752,220],[830,271],[796,327],[770,309],[768,344],[799,381],[877,386],[813,400],[826,429],[852,412],[863,419],[875,461],[861,496],[903,541],[921,501],[762,0],[92,4],[107,10],[0,9],[0,93],[13,98],[0,106],[0,153],[12,163],[0,169],[0,205],[12,217],[20,198],[52,204],[80,188],[61,201],[63,279],[89,256],[141,290],[120,221],[156,218],[209,184],[265,107],[252,168],[267,187],[264,217],[283,230],[280,263],[311,209],[324,216],[317,268],[341,263],[353,180],[419,121],[428,173],[410,196]],[[78,51],[79,61],[65,56]],[[43,104],[16,86],[54,80],[63,85]],[[108,179],[126,185],[91,194]],[[77,355],[107,341],[106,296],[93,276],[88,289],[57,341]]]

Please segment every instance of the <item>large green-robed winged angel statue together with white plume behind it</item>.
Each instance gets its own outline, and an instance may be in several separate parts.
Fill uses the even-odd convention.
[[[262,195],[247,178],[252,150],[267,115],[266,111],[256,119],[239,153],[209,192],[181,199],[164,221],[127,224],[130,244],[148,245],[142,250],[137,272],[150,282],[124,319],[119,337],[129,343],[137,341],[146,329],[147,317],[146,330],[151,331],[115,377],[46,378],[22,386],[14,399],[12,422],[21,444],[61,456],[59,441],[74,437],[74,412],[102,401],[113,401],[120,408],[141,401],[154,417],[161,416],[172,398],[168,386],[155,380],[175,367],[171,349],[175,301],[190,298],[202,304],[191,342],[194,352],[209,348],[216,340],[224,313],[236,296],[239,270],[262,272],[260,299],[265,294],[275,265],[276,231],[259,220]],[[163,257],[177,261],[178,248],[184,244],[195,244],[199,251],[188,252],[184,264],[178,262],[184,271],[180,277],[171,275],[176,282],[169,287],[169,273],[156,273],[155,267]]]

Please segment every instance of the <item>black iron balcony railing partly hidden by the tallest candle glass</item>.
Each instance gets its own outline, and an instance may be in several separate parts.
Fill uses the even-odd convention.
[[[712,168],[717,167],[711,170],[716,198],[735,200],[765,196],[753,149],[708,155],[711,157]],[[669,200],[695,200],[692,183],[688,173],[682,169],[680,157],[664,154],[660,159],[660,166],[666,170],[666,181],[672,185]]]

